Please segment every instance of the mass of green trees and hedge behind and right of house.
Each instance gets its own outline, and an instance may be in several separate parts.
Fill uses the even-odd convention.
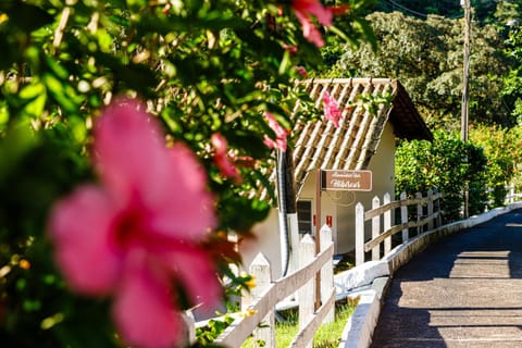
[[[504,203],[505,185],[520,182],[520,151],[514,150],[522,119],[520,4],[471,1],[470,145],[457,137],[464,27],[458,1],[378,1],[365,17],[377,37],[376,52],[368,46],[323,49],[331,67],[320,74],[394,77],[406,86],[436,136],[431,145],[400,142],[398,191],[413,195],[439,187],[449,194],[445,204],[450,219],[461,213],[464,189],[470,190],[473,213],[492,201]],[[494,189],[489,197],[486,188]]]

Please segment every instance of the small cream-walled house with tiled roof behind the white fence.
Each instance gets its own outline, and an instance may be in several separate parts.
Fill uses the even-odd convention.
[[[334,98],[343,119],[338,127],[324,119],[295,125],[296,226],[302,237],[314,235],[318,226],[327,224],[333,229],[335,253],[349,252],[355,248],[356,203],[362,202],[368,208],[373,197],[394,194],[397,138],[432,140],[433,137],[396,79],[328,78],[303,84],[318,109],[322,108],[326,94]],[[361,171],[370,175],[371,182],[364,183],[366,187],[362,189],[324,190],[320,182],[327,171]],[[272,264],[273,277],[282,275],[281,219],[274,208],[264,222],[254,226],[257,240],[240,250],[245,268],[261,251]]]

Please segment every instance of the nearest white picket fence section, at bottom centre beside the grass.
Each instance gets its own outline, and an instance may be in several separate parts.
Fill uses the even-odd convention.
[[[319,326],[334,320],[334,244],[332,229],[326,225],[321,228],[320,241],[316,253],[315,241],[306,235],[299,244],[300,269],[275,282],[271,279],[269,261],[259,253],[249,270],[256,279],[251,296],[246,297],[251,302],[241,303],[249,315],[237,318],[214,343],[240,347],[253,334],[256,346],[275,347],[275,306],[295,295],[299,303],[299,332],[290,347],[312,347]]]

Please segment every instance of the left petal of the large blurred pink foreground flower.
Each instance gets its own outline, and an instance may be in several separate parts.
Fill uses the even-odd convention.
[[[114,215],[112,201],[95,186],[79,187],[53,208],[50,237],[72,289],[104,295],[114,287],[121,266],[109,240]]]

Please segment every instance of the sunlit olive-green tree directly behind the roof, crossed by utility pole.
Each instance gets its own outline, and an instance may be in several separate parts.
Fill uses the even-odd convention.
[[[377,53],[366,46],[347,50],[326,74],[398,78],[430,125],[460,127],[461,22],[435,15],[422,21],[398,12],[377,12],[366,18],[377,36]],[[493,26],[474,26],[472,42],[471,123],[510,125],[510,110],[498,97],[506,73],[501,39]]]

